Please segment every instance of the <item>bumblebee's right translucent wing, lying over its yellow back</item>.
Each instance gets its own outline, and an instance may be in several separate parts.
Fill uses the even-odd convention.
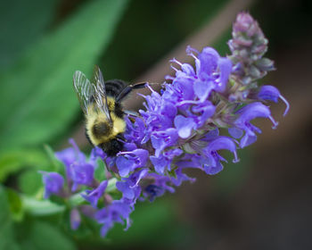
[[[106,89],[103,74],[97,65],[95,65],[94,67],[93,87],[94,87],[94,100],[97,104],[97,107],[101,110],[101,112],[103,112],[106,115],[107,120],[112,123],[111,114],[107,104]]]

